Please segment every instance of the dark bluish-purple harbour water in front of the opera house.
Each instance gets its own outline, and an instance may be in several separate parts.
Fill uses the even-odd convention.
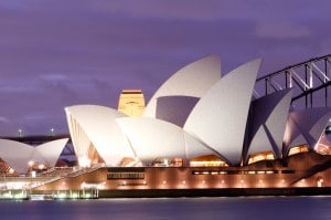
[[[331,197],[0,201],[0,218],[21,220],[323,220],[331,219]]]

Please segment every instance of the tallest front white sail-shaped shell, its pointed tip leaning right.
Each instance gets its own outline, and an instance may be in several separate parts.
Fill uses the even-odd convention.
[[[241,160],[253,88],[261,60],[248,62],[223,76],[197,102],[184,129],[223,155]]]

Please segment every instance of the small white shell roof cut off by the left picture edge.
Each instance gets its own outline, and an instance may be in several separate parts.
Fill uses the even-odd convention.
[[[9,139],[0,139],[0,157],[17,172],[25,174],[34,147]]]

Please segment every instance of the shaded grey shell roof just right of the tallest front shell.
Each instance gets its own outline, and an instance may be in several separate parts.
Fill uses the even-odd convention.
[[[253,103],[253,129],[248,140],[248,155],[274,150],[277,158],[281,157],[285,127],[291,103],[292,92],[284,90],[264,96]],[[247,158],[245,158],[247,159]]]

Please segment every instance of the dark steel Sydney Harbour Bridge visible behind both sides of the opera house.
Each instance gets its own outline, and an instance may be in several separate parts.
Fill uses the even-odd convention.
[[[282,70],[266,74],[256,80],[254,97],[259,98],[276,91],[292,88],[291,99],[295,109],[312,107],[331,107],[331,54],[310,59]],[[331,118],[330,118],[331,119]],[[325,128],[331,134],[331,122]],[[70,138],[68,134],[47,136],[3,137],[29,145],[41,145],[46,142]],[[74,149],[68,142],[63,157],[74,157]]]

